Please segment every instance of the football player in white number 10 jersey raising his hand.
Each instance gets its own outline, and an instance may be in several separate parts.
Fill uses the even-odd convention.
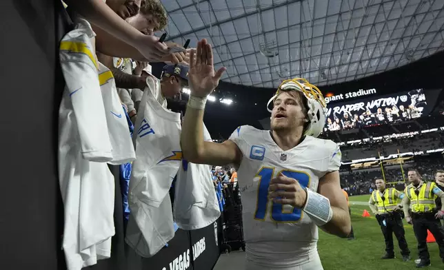
[[[205,142],[206,96],[224,70],[214,72],[211,46],[199,41],[190,56],[183,156],[193,163],[239,167],[246,269],[323,269],[317,227],[343,238],[351,229],[339,184],[341,152],[336,143],[315,138],[325,125],[323,96],[304,79],[283,81],[270,100],[271,131],[242,126],[224,143]]]

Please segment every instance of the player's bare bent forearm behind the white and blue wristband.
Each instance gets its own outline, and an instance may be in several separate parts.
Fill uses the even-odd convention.
[[[333,216],[330,222],[323,225],[321,229],[335,236],[346,238],[352,231],[352,221],[348,210],[332,206]]]

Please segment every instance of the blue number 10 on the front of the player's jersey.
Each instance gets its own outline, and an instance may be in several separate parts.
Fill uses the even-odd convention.
[[[305,172],[295,172],[290,170],[281,171],[284,176],[289,178],[294,178],[299,181],[301,187],[308,187],[310,185],[310,175]],[[279,175],[276,174],[276,176]],[[265,220],[268,211],[268,187],[270,182],[274,177],[274,168],[272,167],[262,167],[261,170],[256,174],[261,180],[259,180],[259,187],[257,191],[257,201],[256,201],[256,211],[254,213],[254,219]],[[293,208],[293,211],[285,213],[283,211],[283,205],[278,203],[272,203],[272,213],[271,218],[273,221],[277,222],[298,222],[301,220],[301,209]]]

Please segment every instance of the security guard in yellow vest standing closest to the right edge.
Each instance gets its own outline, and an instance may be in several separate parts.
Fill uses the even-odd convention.
[[[436,209],[435,199],[441,198],[444,205],[444,192],[434,182],[423,182],[421,174],[416,169],[408,171],[409,185],[405,187],[403,198],[405,220],[413,224],[416,240],[418,240],[418,254],[420,262],[416,267],[430,265],[430,254],[427,249],[427,229],[436,239],[439,247],[439,256],[444,262],[444,232],[441,231],[439,218],[444,216],[444,206]],[[410,212],[409,213],[409,209]]]

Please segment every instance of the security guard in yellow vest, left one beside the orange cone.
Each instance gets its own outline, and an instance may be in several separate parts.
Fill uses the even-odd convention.
[[[398,200],[404,198],[404,194],[393,187],[385,188],[384,180],[375,180],[376,190],[372,192],[368,205],[378,220],[385,239],[385,255],[381,259],[393,259],[393,233],[398,239],[403,261],[410,260],[410,250],[405,240],[401,205]]]

